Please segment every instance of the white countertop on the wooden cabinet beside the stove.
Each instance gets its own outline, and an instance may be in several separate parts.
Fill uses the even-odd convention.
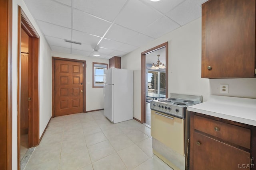
[[[212,95],[188,110],[256,126],[256,99]]]

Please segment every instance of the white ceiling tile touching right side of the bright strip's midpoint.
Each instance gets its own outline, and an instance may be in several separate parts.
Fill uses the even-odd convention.
[[[136,35],[136,31],[113,24],[106,34],[105,38],[125,43],[127,39]]]

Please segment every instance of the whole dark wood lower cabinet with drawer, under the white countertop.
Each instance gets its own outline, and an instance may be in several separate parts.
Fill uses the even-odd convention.
[[[191,112],[190,170],[256,169],[254,135],[254,126]]]

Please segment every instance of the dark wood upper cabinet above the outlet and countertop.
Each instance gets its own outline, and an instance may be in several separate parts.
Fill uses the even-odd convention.
[[[255,0],[202,4],[202,78],[255,77]]]

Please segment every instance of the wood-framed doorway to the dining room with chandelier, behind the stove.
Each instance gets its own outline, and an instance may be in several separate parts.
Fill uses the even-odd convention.
[[[164,69],[152,68],[158,59]],[[142,52],[141,61],[141,123],[150,126],[150,101],[168,96],[168,42]]]

